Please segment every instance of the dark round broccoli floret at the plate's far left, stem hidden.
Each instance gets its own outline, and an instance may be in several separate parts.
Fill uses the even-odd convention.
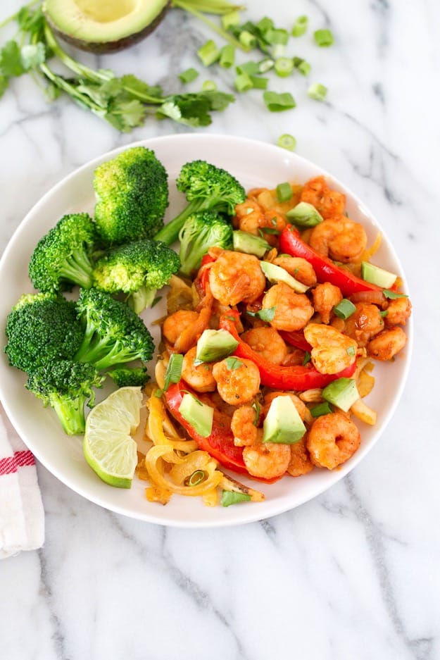
[[[5,353],[11,365],[29,373],[46,361],[70,359],[83,335],[75,302],[50,293],[24,294],[6,320]]]

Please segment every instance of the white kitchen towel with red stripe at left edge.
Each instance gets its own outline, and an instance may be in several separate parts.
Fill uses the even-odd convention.
[[[34,456],[0,406],[0,559],[44,542],[44,509]]]

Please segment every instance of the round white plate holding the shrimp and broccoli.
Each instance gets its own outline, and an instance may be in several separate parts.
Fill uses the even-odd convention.
[[[346,194],[348,215],[363,223],[369,244],[378,231],[383,234],[372,214],[344,185],[304,158],[270,144],[225,135],[193,134],[158,137],[137,144],[153,149],[168,171],[170,206],[165,221],[177,215],[184,206],[184,197],[175,188],[180,168],[187,161],[202,158],[230,171],[246,189],[275,187],[279,182],[287,180],[303,183],[324,174],[334,188]],[[130,146],[134,145],[103,154],[62,180],[32,208],[15,231],[0,262],[0,280],[8,282],[1,300],[2,328],[8,312],[20,295],[33,290],[27,278],[27,264],[39,238],[65,213],[93,213],[94,168]],[[385,236],[375,255],[375,263],[403,277],[401,264]],[[158,316],[161,316],[161,312],[154,307],[144,318],[148,323]],[[410,329],[411,324],[408,327],[411,337]],[[152,327],[151,330],[158,337],[158,328]],[[308,502],[343,478],[363,459],[396,409],[408,373],[410,350],[411,338],[403,356],[399,356],[394,363],[377,363],[375,366],[376,385],[367,402],[377,411],[377,424],[368,427],[359,423],[362,444],[350,461],[336,471],[315,469],[303,477],[284,477],[272,485],[260,487],[258,482],[248,482],[265,492],[265,502],[249,502],[227,508],[206,507],[201,498],[178,495],[173,496],[166,506],[147,502],[144,494],[146,484],[137,478],[134,478],[130,490],[106,485],[85,462],[82,438],[68,437],[63,433],[54,411],[44,409],[41,401],[25,390],[25,374],[9,366],[4,353],[0,361],[0,397],[15,429],[34,456],[61,482],[91,502],[132,518],[162,525],[187,528],[236,525],[268,518]]]

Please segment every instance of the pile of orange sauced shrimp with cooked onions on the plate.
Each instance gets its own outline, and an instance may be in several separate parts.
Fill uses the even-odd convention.
[[[256,256],[212,247],[208,251],[211,261],[201,266],[194,281],[172,278],[168,316],[161,322],[163,362],[156,372],[158,386],[163,386],[164,365],[170,355],[182,354],[183,382],[226,419],[234,444],[243,448],[246,470],[256,480],[300,477],[315,469],[334,470],[348,461],[361,442],[354,420],[367,424],[376,421],[375,411],[363,401],[375,382],[371,373],[374,361],[394,360],[407,339],[403,326],[411,313],[408,297],[387,299],[380,291],[353,294],[349,299],[356,311],[344,320],[334,314],[334,307],[344,297],[339,287],[318,283],[313,267],[305,259],[279,254],[278,235],[288,223],[286,213],[300,201],[313,204],[323,218],[315,228],[301,233],[303,241],[353,273],[360,273],[360,262],[372,256],[379,239],[367,249],[365,229],[346,216],[344,194],[330,189],[323,177],[303,187],[292,185],[292,197],[283,203],[277,200],[275,190],[253,189],[236,207],[234,228],[263,236],[271,247],[265,261],[281,266],[309,287],[306,293],[297,293],[283,282],[271,285]],[[255,314],[262,309],[273,311],[270,321]],[[333,406],[332,412],[315,418],[310,411],[323,401],[322,390],[274,391],[263,387],[258,366],[250,359],[240,358],[233,370],[226,359],[194,364],[203,330],[218,329],[220,316],[231,310],[240,314],[241,340],[275,366],[303,365],[311,360],[320,373],[336,374],[356,361],[352,378],[360,399],[348,412]],[[285,340],[285,333],[297,331],[303,332],[310,354]],[[155,387],[151,385],[150,392]],[[279,396],[290,397],[306,427],[295,444],[263,442],[263,421],[271,401]],[[205,504],[212,506],[217,502],[215,492],[219,487],[248,493],[257,501],[263,499],[262,493],[227,478],[218,461],[197,449],[194,440],[188,440],[184,430],[170,420],[164,400],[152,394],[149,408],[147,436],[157,456],[149,460],[147,454],[139,468],[152,483],[147,489],[149,499],[165,503],[172,492],[201,494]],[[156,420],[156,428],[152,420]],[[157,449],[158,445],[162,449]],[[174,489],[176,463],[187,467]],[[188,480],[193,469],[202,469],[206,474],[204,488],[203,482],[181,487],[182,479]]]

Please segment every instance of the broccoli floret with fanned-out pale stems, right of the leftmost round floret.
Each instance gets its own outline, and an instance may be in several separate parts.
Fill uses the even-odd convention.
[[[150,332],[125,302],[98,289],[81,289],[77,309],[85,332],[75,360],[92,362],[99,371],[115,364],[151,360],[154,344]]]

